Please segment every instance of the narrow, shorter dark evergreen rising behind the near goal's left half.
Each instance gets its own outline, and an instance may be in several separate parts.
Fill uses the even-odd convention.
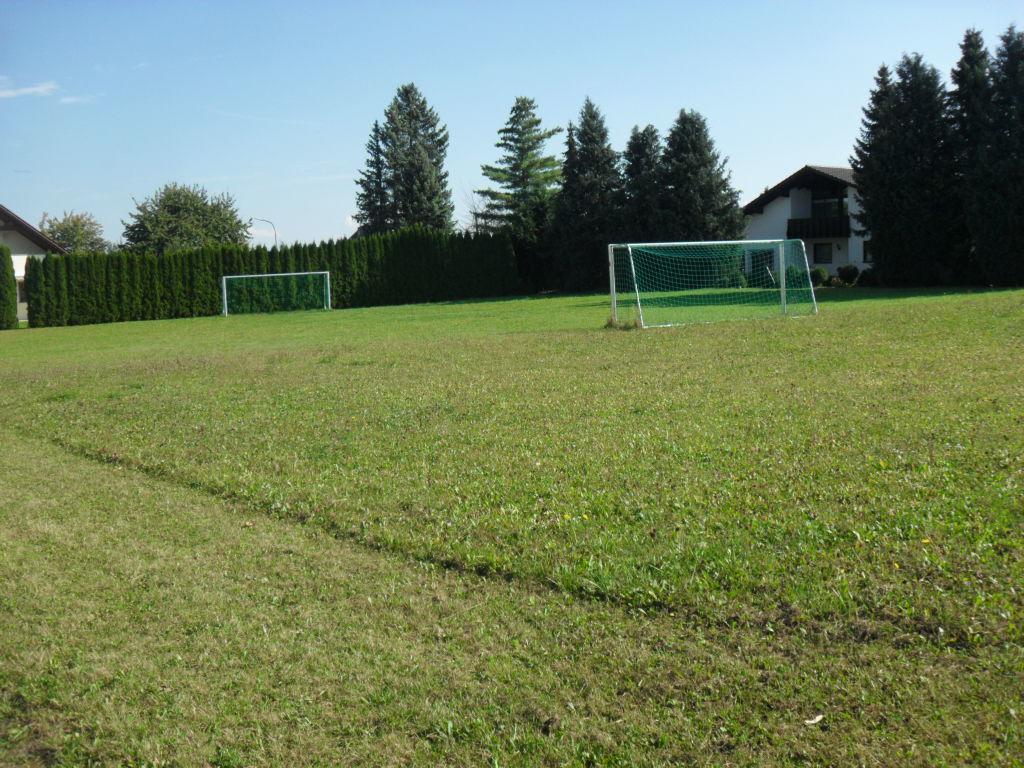
[[[662,137],[648,125],[634,126],[626,144],[623,240],[643,243],[664,240],[662,216]]]

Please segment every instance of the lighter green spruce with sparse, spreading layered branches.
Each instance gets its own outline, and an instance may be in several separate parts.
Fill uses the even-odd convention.
[[[534,290],[548,282],[548,265],[541,244],[551,216],[551,203],[561,178],[558,159],[548,155],[547,142],[561,128],[544,128],[537,102],[516,98],[505,126],[498,131],[502,151],[497,164],[482,167],[496,187],[478,189],[484,201],[476,225],[483,231],[501,231],[515,244],[520,279]]]

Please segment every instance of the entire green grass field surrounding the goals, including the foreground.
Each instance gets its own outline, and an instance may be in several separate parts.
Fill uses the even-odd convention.
[[[0,764],[1021,764],[1024,292],[819,299],[0,335]]]

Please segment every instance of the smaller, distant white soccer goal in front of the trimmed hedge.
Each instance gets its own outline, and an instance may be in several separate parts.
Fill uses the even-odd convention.
[[[331,272],[225,274],[221,314],[331,308]]]

